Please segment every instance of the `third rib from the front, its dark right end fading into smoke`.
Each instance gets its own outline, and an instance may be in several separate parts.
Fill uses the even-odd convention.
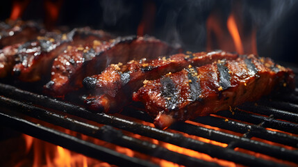
[[[69,48],[56,58],[52,67],[51,81],[44,86],[53,96],[65,95],[70,90],[83,87],[82,81],[92,74],[99,74],[110,63],[127,62],[131,59],[149,59],[169,54],[172,48],[152,37],[129,36],[90,47]]]

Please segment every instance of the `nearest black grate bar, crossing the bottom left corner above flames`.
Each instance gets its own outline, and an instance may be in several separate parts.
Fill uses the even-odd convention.
[[[1,123],[6,126],[10,125],[10,127],[13,127],[14,129],[24,132],[30,136],[40,138],[44,141],[49,141],[56,145],[63,145],[64,148],[69,150],[81,152],[88,157],[93,157],[95,159],[102,159],[102,157],[105,157],[103,160],[110,164],[115,164],[118,166],[156,166],[151,162],[129,157],[125,154],[120,154],[119,152],[104,148],[100,145],[83,141],[79,138],[75,138],[74,136],[59,132],[55,129],[24,120],[19,118],[17,115],[14,115],[14,113],[15,112],[10,112],[7,114],[0,112]],[[74,145],[76,145],[76,147],[74,147]],[[117,161],[115,161],[115,159],[117,159]]]

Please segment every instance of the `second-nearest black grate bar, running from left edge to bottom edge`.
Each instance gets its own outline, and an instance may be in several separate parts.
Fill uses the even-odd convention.
[[[93,125],[89,125],[85,122],[80,122],[69,117],[65,118],[64,115],[40,109],[36,106],[23,104],[21,102],[11,100],[6,97],[0,97],[0,104],[13,109],[17,109],[17,111],[25,113],[26,116],[32,116],[33,118],[44,120],[53,125],[58,125],[60,127],[71,129],[75,132],[92,136],[94,138],[99,138],[103,141],[108,141],[110,143],[114,143],[125,148],[130,148],[132,150],[142,152],[144,154],[149,154],[153,157],[158,157],[160,159],[172,161],[176,164],[181,164],[184,166],[218,166],[217,164],[203,161],[200,159],[195,159],[185,154],[172,152],[170,150],[167,150],[166,148],[149,143],[147,141],[141,141],[137,138],[126,136],[122,134],[121,131],[113,129],[113,127],[110,127],[108,125],[105,125],[104,127],[96,127]]]

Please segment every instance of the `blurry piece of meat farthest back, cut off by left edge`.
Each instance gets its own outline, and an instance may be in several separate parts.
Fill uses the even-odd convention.
[[[34,40],[38,35],[43,35],[44,29],[35,22],[10,21],[0,25],[0,48],[17,43]]]

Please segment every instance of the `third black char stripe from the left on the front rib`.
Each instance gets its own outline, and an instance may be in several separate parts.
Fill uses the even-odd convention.
[[[217,70],[220,72],[220,86],[222,90],[226,90],[231,87],[231,75],[229,68],[226,67],[226,63],[217,63]]]

